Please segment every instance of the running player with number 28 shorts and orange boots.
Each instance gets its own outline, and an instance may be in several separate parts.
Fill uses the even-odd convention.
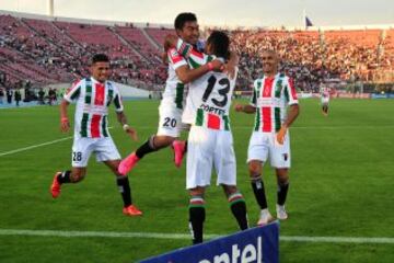
[[[127,176],[117,172],[120,156],[108,133],[108,106],[113,102],[118,122],[124,130],[137,140],[137,133],[127,125],[119,91],[111,76],[109,59],[104,54],[92,58],[90,78],[76,82],[65,94],[60,104],[61,132],[70,129],[67,108],[71,101],[77,101],[74,116],[74,139],[72,145],[72,169],[55,174],[50,192],[54,198],[60,194],[62,184],[79,183],[86,174],[86,165],[92,152],[96,160],[104,162],[116,175],[116,183],[124,202],[123,213],[127,216],[140,216],[140,211],[131,202],[131,191]]]

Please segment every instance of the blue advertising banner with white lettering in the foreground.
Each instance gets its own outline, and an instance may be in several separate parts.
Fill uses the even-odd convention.
[[[178,249],[140,263],[277,263],[279,224],[271,222],[206,243]]]

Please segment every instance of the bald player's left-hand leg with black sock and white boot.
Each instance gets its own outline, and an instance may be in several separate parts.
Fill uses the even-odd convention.
[[[267,225],[274,220],[274,217],[268,210],[267,198],[264,188],[264,182],[262,178],[263,162],[259,160],[252,160],[248,162],[250,176],[252,181],[252,188],[260,208],[258,226]]]

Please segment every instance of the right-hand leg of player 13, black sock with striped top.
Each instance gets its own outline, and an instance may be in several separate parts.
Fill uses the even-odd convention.
[[[246,203],[235,185],[222,184],[224,194],[229,201],[230,209],[234,215],[241,230],[248,228]]]

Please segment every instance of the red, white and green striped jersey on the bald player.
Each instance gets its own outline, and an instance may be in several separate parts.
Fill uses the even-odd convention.
[[[287,118],[287,106],[298,104],[292,80],[283,73],[263,77],[253,84],[251,105],[256,107],[255,132],[276,133]]]

